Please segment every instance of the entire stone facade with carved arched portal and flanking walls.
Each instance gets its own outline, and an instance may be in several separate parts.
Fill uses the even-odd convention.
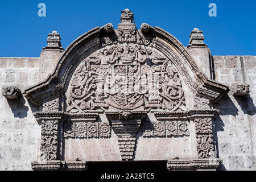
[[[256,169],[256,56],[212,56],[198,28],[188,47],[137,30],[128,9],[117,30],[93,28],[65,50],[60,40],[53,31],[40,57],[0,58],[1,170]]]

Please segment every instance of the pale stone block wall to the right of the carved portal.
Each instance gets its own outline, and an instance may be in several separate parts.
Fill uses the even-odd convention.
[[[216,125],[222,170],[256,170],[256,56],[213,56],[216,81],[250,85],[248,96],[231,92],[214,106],[220,110]]]

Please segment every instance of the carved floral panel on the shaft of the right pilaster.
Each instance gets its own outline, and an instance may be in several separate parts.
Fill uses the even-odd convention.
[[[195,118],[195,125],[199,158],[213,158],[212,118]]]

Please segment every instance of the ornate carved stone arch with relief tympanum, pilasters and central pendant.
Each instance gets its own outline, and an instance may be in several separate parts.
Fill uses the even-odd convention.
[[[112,78],[114,84],[108,82]],[[109,89],[117,85],[117,90]],[[122,93],[123,88],[132,91]],[[228,91],[199,71],[174,36],[146,23],[137,30],[133,13],[126,9],[117,30],[108,23],[86,32],[65,49],[46,81],[24,90],[28,100],[43,108],[35,113],[42,122],[41,158],[32,166],[85,169],[82,162],[60,161],[65,160],[65,139],[111,138],[112,129],[120,159],[134,160],[142,129],[145,138],[190,137],[191,158],[198,158],[203,168],[215,167],[220,160],[214,159],[212,118],[218,111],[210,103]],[[192,94],[185,97],[184,92]],[[193,105],[186,106],[185,100]],[[176,163],[168,165],[172,169]]]

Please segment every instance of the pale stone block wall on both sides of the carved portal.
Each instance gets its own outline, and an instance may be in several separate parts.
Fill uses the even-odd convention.
[[[256,170],[256,56],[213,59],[216,81],[230,88],[233,81],[247,83],[251,90],[243,97],[229,93],[214,104],[220,110],[220,117],[214,119],[214,137],[224,162],[220,169]],[[2,57],[0,88],[15,85],[23,91],[42,81],[39,72],[47,75],[47,71],[40,71],[39,57]],[[32,114],[37,110],[23,96],[7,101],[0,94],[0,170],[31,170],[39,150],[40,126]]]

